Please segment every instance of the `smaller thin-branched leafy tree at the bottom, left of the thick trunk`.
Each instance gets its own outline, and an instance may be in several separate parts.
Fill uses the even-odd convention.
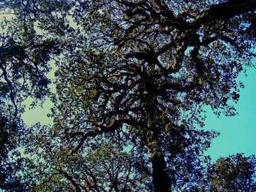
[[[97,137],[70,155],[72,146],[53,140],[50,128],[37,125],[34,130],[26,139],[37,146],[29,149],[36,155],[26,158],[23,172],[29,191],[149,191],[150,171],[121,141]]]

